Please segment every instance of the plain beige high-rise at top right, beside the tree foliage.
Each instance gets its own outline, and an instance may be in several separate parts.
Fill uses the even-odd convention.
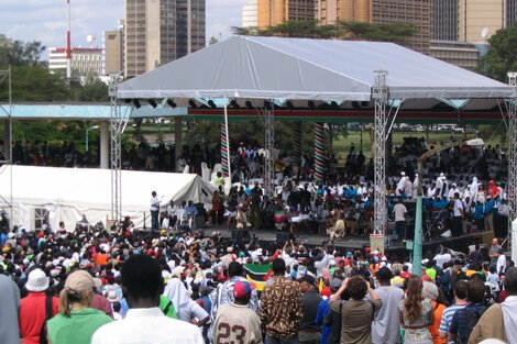
[[[504,0],[460,0],[458,40],[474,43],[488,40],[504,26]]]

